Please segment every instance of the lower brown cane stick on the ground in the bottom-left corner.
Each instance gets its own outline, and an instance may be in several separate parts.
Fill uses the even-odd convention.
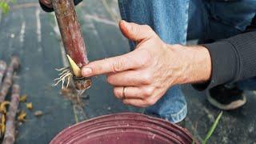
[[[12,86],[12,94],[10,100],[9,111],[6,115],[6,133],[2,144],[13,144],[15,142],[15,117],[18,112],[19,104],[19,86]]]

